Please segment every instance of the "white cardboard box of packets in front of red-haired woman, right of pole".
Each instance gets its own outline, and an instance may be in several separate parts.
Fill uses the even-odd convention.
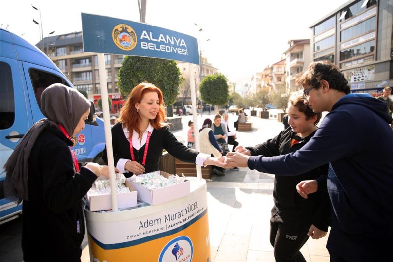
[[[171,176],[171,174],[168,174],[167,172],[164,171],[156,171],[156,172],[166,178]],[[145,174],[142,174],[140,176],[144,176],[144,175]],[[130,178],[127,178],[127,181],[129,181],[129,179]],[[153,190],[146,189],[143,186],[133,182],[131,183],[138,192],[138,198],[149,203],[152,206],[164,202],[168,202],[173,199],[185,197],[190,194],[190,181],[188,180],[185,180],[182,183],[172,184],[166,187],[160,187]]]

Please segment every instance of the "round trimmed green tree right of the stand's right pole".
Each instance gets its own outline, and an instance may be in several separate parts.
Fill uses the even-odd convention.
[[[226,105],[229,99],[228,79],[223,74],[208,75],[199,85],[202,100],[211,105]]]

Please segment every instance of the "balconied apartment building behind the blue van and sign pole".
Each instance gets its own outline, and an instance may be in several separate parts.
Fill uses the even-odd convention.
[[[40,43],[36,46],[40,48]],[[43,39],[45,52],[78,90],[86,91],[88,97],[97,101],[101,98],[98,58],[94,53],[83,52],[82,32],[74,32]],[[118,71],[124,55],[105,54],[108,96],[112,113],[117,113],[123,102],[118,89]]]

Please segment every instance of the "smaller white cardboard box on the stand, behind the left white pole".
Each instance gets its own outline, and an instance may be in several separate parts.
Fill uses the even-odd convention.
[[[117,193],[117,207],[119,209],[131,208],[137,205],[137,191],[130,181],[126,180],[125,185],[130,189],[130,192]],[[111,194],[90,196],[90,190],[87,192],[86,198],[91,212],[112,209]]]

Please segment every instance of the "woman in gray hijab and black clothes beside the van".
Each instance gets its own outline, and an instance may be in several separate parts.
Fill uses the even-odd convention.
[[[53,84],[41,96],[47,118],[35,123],[4,165],[7,198],[22,203],[23,259],[80,261],[81,199],[108,167],[78,163],[70,140],[84,129],[90,102],[76,89]],[[44,241],[39,241],[40,237]]]

